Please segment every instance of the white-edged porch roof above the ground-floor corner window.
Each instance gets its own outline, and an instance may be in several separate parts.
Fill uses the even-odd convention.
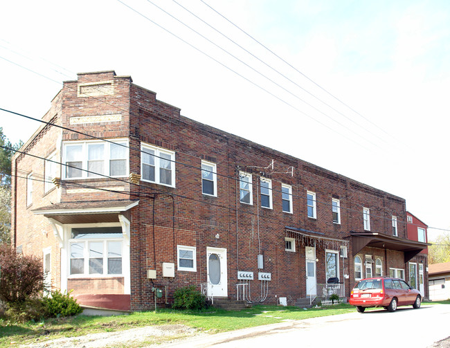
[[[33,210],[37,215],[53,218],[59,223],[118,222],[118,215],[138,205],[139,201],[91,201],[46,205]]]

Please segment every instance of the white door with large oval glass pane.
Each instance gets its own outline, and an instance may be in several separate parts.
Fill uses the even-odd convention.
[[[208,296],[227,296],[226,249],[207,247],[206,257]]]

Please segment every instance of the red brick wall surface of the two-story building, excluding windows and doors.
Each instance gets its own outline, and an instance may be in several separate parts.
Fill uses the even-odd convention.
[[[77,84],[113,80],[114,95],[80,97]],[[180,109],[156,100],[156,94],[132,84],[130,77],[118,77],[113,72],[78,75],[78,82],[65,82],[62,92],[53,100],[53,111],[65,127],[86,132],[100,138],[129,138],[130,172],[141,174],[141,142],[176,152],[176,187],[165,187],[141,181],[130,185],[105,178],[84,180],[91,186],[121,186],[125,194],[111,192],[67,194],[60,190],[61,201],[106,201],[111,199],[139,199],[132,208],[130,231],[131,305],[132,309],[154,308],[152,286],[167,286],[169,302],[179,286],[206,283],[206,248],[226,248],[228,263],[228,297],[236,296],[237,271],[253,271],[251,281],[253,300],[261,295],[258,271],[272,273],[267,302],[278,297],[288,297],[293,304],[298,297],[305,297],[305,246],[296,241],[296,253],[285,251],[286,226],[322,232],[327,237],[347,239],[349,231],[363,231],[363,207],[370,208],[372,231],[391,233],[391,216],[399,221],[399,237],[406,237],[405,201],[397,196],[357,183],[350,178],[324,170],[298,158],[276,152],[243,138],[202,125],[180,115]],[[96,116],[120,113],[120,122],[70,125],[73,116]],[[52,129],[30,151],[45,154],[54,147],[58,134],[62,140],[87,138],[70,131]],[[60,146],[60,145],[58,145]],[[58,147],[59,149],[59,147]],[[217,163],[217,197],[201,194],[201,160]],[[274,160],[274,172],[264,169]],[[21,158],[19,167],[39,172],[39,162],[33,158]],[[253,174],[253,205],[239,203],[237,171]],[[272,179],[273,209],[260,207],[258,202],[258,176]],[[43,245],[53,245],[55,261],[59,262],[59,248],[46,219],[30,212],[24,206],[26,187],[24,180],[17,188],[17,246],[23,244],[28,252],[42,253]],[[282,212],[281,183],[292,185],[294,214]],[[307,217],[306,192],[316,192],[317,218]],[[36,194],[33,206],[58,202],[58,190],[46,196]],[[341,224],[332,223],[332,198],[341,200]],[[259,208],[258,208],[259,206]],[[153,218],[154,217],[154,218]],[[45,237],[41,230],[48,231]],[[219,239],[215,235],[219,234]],[[46,242],[45,239],[49,241]],[[177,266],[177,245],[197,248],[197,272],[175,271],[174,278],[163,278],[163,262]],[[41,250],[41,251],[39,251]],[[362,250],[364,251],[364,250]],[[378,252],[378,251],[377,251]],[[257,255],[264,257],[264,269],[257,268]],[[354,283],[352,248],[349,246],[345,265],[340,258],[340,280],[349,274],[345,288]],[[53,254],[52,254],[53,257]],[[325,282],[325,248],[316,249],[317,282]],[[397,264],[399,255],[388,252],[388,264]],[[156,261],[155,261],[156,260]],[[55,264],[55,263],[52,263]],[[403,264],[404,267],[404,264]],[[147,269],[155,269],[157,278],[147,280]],[[402,268],[402,267],[399,267]],[[58,272],[55,266],[55,272]],[[105,292],[111,286],[105,284]],[[348,292],[349,290],[347,290]],[[158,300],[163,305],[165,299]]]

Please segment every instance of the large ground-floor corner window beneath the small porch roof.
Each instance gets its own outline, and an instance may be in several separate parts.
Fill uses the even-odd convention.
[[[117,277],[123,274],[120,226],[73,227],[69,239],[70,277]]]

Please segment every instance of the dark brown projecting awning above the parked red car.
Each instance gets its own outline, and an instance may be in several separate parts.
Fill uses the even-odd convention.
[[[381,248],[388,250],[397,250],[404,252],[405,264],[418,253],[431,244],[421,241],[411,241],[390,235],[384,235],[379,232],[351,232],[353,256],[357,255],[363,248],[370,246],[372,248]]]

